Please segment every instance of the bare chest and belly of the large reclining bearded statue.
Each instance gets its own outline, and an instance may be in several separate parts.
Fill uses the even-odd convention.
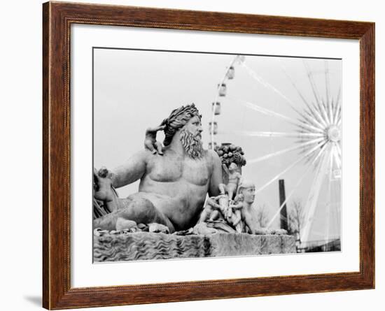
[[[181,157],[171,150],[165,150],[162,156],[147,154],[147,170],[139,193],[132,196],[147,198],[176,229],[190,227],[202,212],[209,189],[214,169],[209,152],[202,159]]]

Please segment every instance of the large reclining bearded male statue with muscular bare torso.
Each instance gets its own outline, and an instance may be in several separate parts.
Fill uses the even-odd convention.
[[[163,146],[156,142],[160,130],[165,131]],[[112,212],[94,219],[94,228],[116,230],[118,219],[119,224],[124,224],[123,220],[163,224],[171,233],[195,226],[207,194],[218,196],[222,182],[221,160],[216,152],[203,149],[201,133],[201,116],[195,105],[181,106],[160,126],[148,129],[145,150],[111,172],[99,171],[99,200]],[[137,193],[127,198],[114,193],[113,188],[137,180]]]

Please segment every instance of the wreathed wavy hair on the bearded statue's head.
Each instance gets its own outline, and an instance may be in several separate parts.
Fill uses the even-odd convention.
[[[172,138],[174,137],[176,131],[185,126],[186,123],[195,116],[199,117],[200,119],[202,118],[202,115],[200,115],[194,103],[172,110],[172,113],[169,115],[169,117],[163,120],[161,124],[166,126],[164,130],[165,140],[163,140],[163,145],[169,145],[172,142]]]

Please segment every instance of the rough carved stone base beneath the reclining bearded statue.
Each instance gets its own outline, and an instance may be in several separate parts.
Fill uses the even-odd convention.
[[[94,231],[94,262],[295,253],[293,236]]]

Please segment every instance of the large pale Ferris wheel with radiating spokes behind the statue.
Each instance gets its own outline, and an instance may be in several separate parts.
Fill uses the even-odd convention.
[[[287,154],[294,154],[295,159],[286,164],[280,171],[272,172],[266,180],[255,189],[255,193],[262,193],[274,184],[285,174],[293,170],[296,166],[303,166],[304,172],[298,175],[295,182],[292,182],[291,191],[285,200],[280,203],[274,215],[270,217],[267,226],[272,226],[274,220],[281,212],[286,203],[293,198],[295,192],[304,180],[309,183],[309,191],[304,203],[304,222],[300,231],[300,242],[302,245],[309,243],[309,234],[314,227],[317,209],[323,209],[323,219],[325,230],[318,235],[323,240],[330,240],[330,223],[332,219],[339,218],[340,213],[340,191],[341,169],[342,169],[342,113],[341,113],[341,82],[340,79],[330,83],[330,68],[328,60],[319,59],[319,64],[323,64],[321,69],[314,70],[309,65],[309,60],[301,59],[301,70],[304,73],[302,81],[297,81],[296,75],[290,74],[283,62],[279,63],[279,74],[285,79],[293,89],[290,95],[286,94],[279,87],[268,82],[258,70],[248,64],[248,59],[244,55],[232,57],[229,65],[225,68],[224,75],[217,85],[217,92],[214,102],[211,103],[211,120],[209,122],[209,149],[214,150],[218,146],[218,133],[221,133],[219,115],[225,113],[223,101],[226,105],[241,103],[248,111],[256,113],[255,118],[270,117],[279,122],[287,124],[286,131],[273,131],[272,129],[258,131],[236,131],[239,136],[248,136],[250,141],[258,139],[286,139],[290,143],[287,147],[280,150],[269,150],[265,154],[252,158],[247,154],[247,165],[258,166],[269,159],[285,158]],[[290,116],[280,110],[274,110],[268,106],[262,106],[255,102],[241,99],[242,94],[231,94],[229,96],[230,80],[235,80],[235,68],[237,71],[244,71],[248,78],[255,82],[258,87],[265,89],[268,94],[274,94],[279,99],[281,105],[286,105],[290,110]],[[337,84],[337,86],[336,86]],[[293,96],[293,94],[296,96]],[[237,97],[235,97],[237,96]],[[257,97],[258,98],[258,97]],[[310,178],[309,178],[310,175]],[[306,179],[305,179],[306,178]],[[337,190],[336,190],[337,189]],[[322,204],[321,204],[322,202]],[[319,219],[318,219],[319,220]],[[339,226],[338,221],[335,223]]]

